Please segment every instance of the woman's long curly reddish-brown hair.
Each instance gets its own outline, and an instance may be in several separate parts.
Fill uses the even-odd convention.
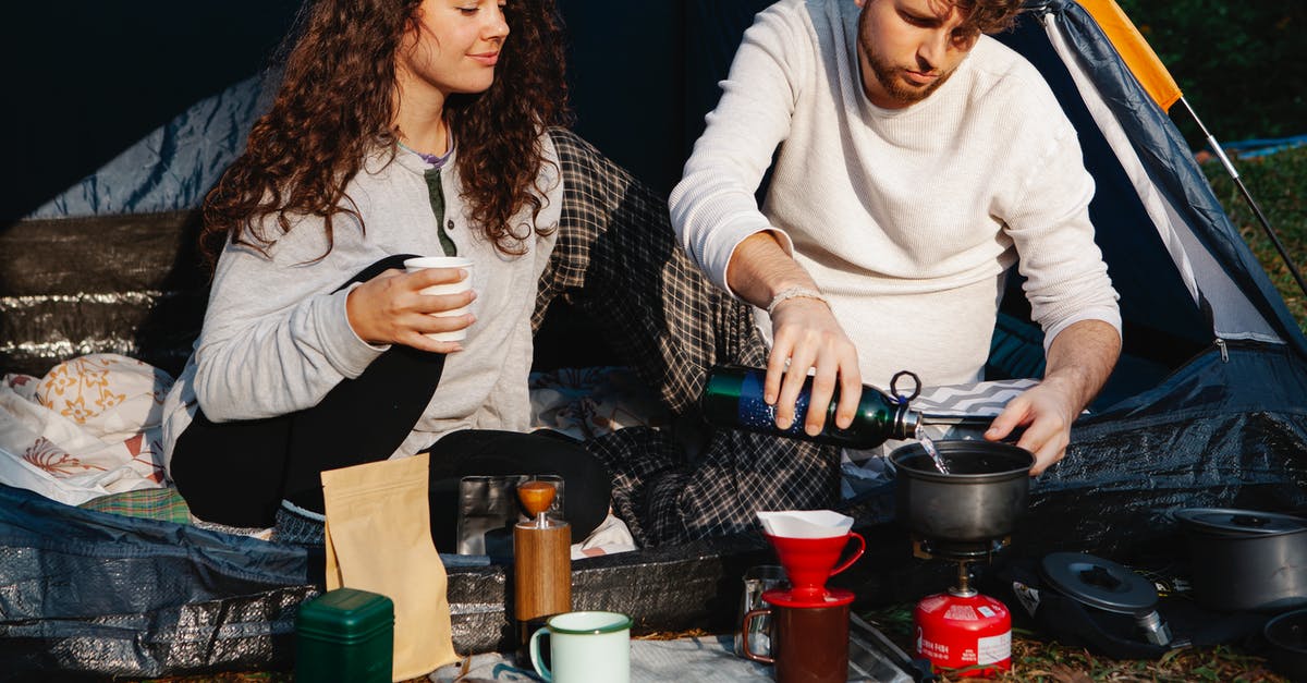
[[[396,54],[418,30],[422,0],[315,0],[284,47],[281,88],[255,122],[244,153],[204,199],[201,251],[210,267],[226,238],[265,251],[297,216],[320,216],[328,253],[333,219],[353,216],[345,187],[378,147],[393,158]],[[533,194],[540,132],[569,122],[563,41],[553,0],[511,0],[510,35],[494,84],[451,96],[444,106],[457,141],[459,177],[472,219],[506,253],[520,253],[512,216],[542,208]],[[276,229],[269,229],[269,216]],[[324,254],[325,255],[325,254]]]

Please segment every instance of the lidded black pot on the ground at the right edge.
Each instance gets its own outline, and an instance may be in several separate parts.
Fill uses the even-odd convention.
[[[1175,518],[1202,606],[1280,611],[1307,603],[1307,519],[1222,508],[1187,508]]]

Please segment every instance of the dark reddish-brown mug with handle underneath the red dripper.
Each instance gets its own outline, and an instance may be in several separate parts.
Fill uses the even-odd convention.
[[[744,656],[775,665],[772,675],[776,683],[844,683],[848,680],[848,604],[778,604],[750,610],[744,616],[745,633],[754,619],[771,616],[771,656],[753,652],[748,639],[744,641]]]

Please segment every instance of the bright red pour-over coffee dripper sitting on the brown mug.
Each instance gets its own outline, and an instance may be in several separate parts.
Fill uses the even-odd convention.
[[[848,569],[867,550],[861,534],[848,534],[829,538],[793,538],[763,534],[776,550],[780,565],[789,577],[788,590],[769,590],[763,599],[772,604],[787,607],[827,607],[852,602],[853,594],[847,590],[827,589],[826,580]],[[850,540],[857,540],[857,550],[847,560],[839,563]],[[835,563],[839,563],[836,567]]]

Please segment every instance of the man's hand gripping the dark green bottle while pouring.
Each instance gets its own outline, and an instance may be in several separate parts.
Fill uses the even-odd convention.
[[[835,425],[840,429],[851,425],[863,395],[857,348],[835,321],[830,306],[825,301],[805,297],[782,301],[771,311],[771,334],[763,400],[776,407],[776,427],[788,429],[793,424],[795,398],[808,378],[809,368],[816,368],[817,372],[813,376],[804,432],[809,436],[821,433],[836,382],[839,403],[835,406]]]

